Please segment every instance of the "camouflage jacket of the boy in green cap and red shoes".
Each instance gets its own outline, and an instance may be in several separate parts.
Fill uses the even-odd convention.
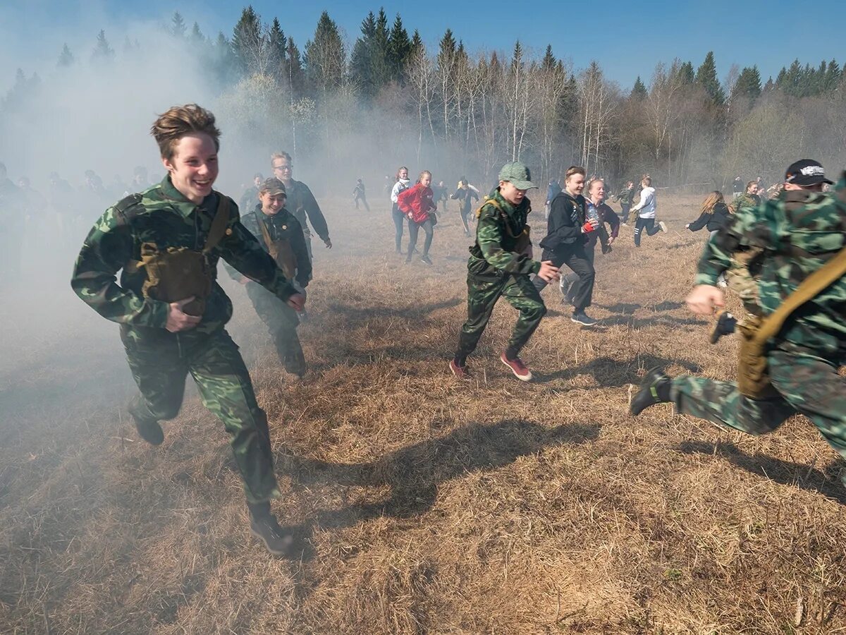
[[[477,276],[538,273],[541,270],[540,262],[515,251],[531,211],[529,199],[524,198],[518,207],[514,207],[500,195],[497,188],[491,192],[490,200],[495,200],[502,209],[497,209],[490,202],[482,205],[467,270]]]

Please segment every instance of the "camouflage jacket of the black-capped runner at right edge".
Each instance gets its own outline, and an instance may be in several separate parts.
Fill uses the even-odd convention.
[[[706,243],[696,284],[717,284],[737,251],[761,250],[755,279],[761,312],[772,314],[810,273],[846,247],[846,173],[827,194],[783,191],[759,207],[743,207]],[[801,306],[779,340],[819,351],[846,354],[846,277]]]

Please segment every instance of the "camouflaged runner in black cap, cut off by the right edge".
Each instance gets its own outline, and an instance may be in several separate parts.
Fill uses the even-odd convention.
[[[700,315],[723,306],[717,277],[743,248],[761,250],[758,292],[761,314],[772,315],[811,273],[846,247],[846,173],[831,193],[823,193],[822,166],[803,159],[785,175],[783,195],[761,207],[739,209],[727,228],[706,243],[696,286],[687,303]],[[689,375],[668,378],[661,369],[647,373],[631,403],[637,415],[660,402],[678,411],[750,434],[771,432],[799,412],[819,428],[846,458],[846,277],[805,302],[768,343],[766,362],[772,396],[751,399],[734,382]],[[846,477],[844,484],[846,484]]]

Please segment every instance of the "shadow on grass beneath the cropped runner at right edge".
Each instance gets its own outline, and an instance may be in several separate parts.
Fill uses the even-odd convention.
[[[747,472],[769,478],[783,485],[795,485],[799,489],[818,492],[841,505],[846,505],[846,489],[839,483],[836,475],[809,467],[804,463],[782,461],[761,454],[750,455],[740,450],[733,443],[711,443],[707,441],[684,441],[678,445],[678,451],[684,454],[708,454],[720,456],[733,466]],[[837,466],[832,466],[837,467]],[[833,479],[833,480],[832,480]]]

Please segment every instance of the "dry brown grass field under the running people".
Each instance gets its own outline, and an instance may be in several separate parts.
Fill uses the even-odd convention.
[[[454,203],[431,268],[394,255],[384,204],[325,203],[335,247],[314,243],[303,382],[224,281],[296,561],[250,537],[228,439],[193,389],[162,446],[137,438],[117,327],[71,296],[69,271],[55,301],[3,303],[0,632],[846,632],[846,492],[816,428],[628,415],[648,367],[734,372],[735,343],[708,345],[683,306],[699,199],[659,196],[669,233],[635,250],[624,227],[597,255],[602,328],[544,292],[530,384],[498,360],[504,302],[473,381],[448,373],[468,245]]]

